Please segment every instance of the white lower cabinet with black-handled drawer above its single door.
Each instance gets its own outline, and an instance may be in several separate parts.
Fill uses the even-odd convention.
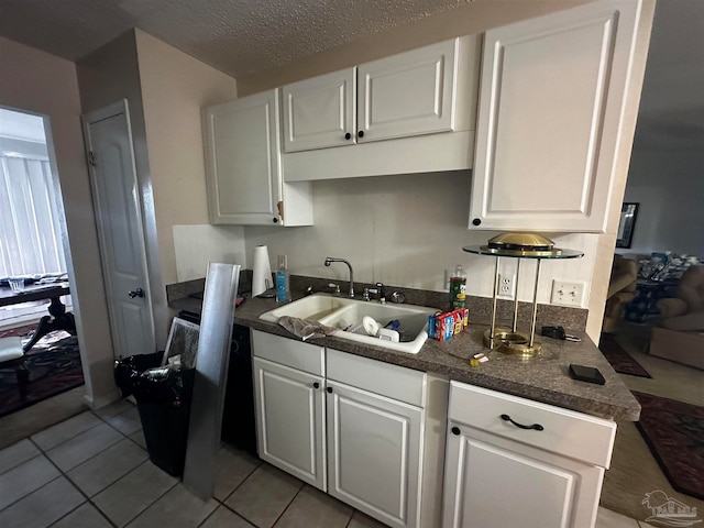
[[[446,528],[587,528],[616,425],[451,383]]]

